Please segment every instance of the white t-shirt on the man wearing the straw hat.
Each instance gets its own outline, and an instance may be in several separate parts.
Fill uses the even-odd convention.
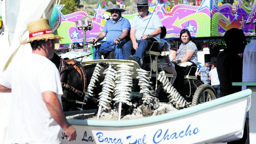
[[[8,139],[19,144],[59,144],[60,126],[50,115],[42,92],[52,91],[61,102],[62,87],[56,66],[46,57],[30,53],[12,61],[0,76],[12,89]]]

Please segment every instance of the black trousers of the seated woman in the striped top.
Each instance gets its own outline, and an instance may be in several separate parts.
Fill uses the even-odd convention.
[[[191,61],[190,61],[191,62]],[[185,86],[184,86],[184,76],[188,75],[189,70],[192,66],[197,66],[195,63],[191,62],[192,65],[191,66],[187,66],[187,67],[180,67],[178,65],[175,66],[175,70],[177,73],[177,77],[173,83],[173,87],[177,89],[177,91],[179,93],[184,93],[185,92]],[[196,73],[196,68],[192,68],[189,75],[191,76],[195,76]]]

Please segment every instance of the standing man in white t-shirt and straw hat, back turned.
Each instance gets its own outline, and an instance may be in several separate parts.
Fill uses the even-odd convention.
[[[60,144],[60,130],[68,140],[76,130],[62,111],[62,87],[54,54],[55,36],[47,19],[27,25],[32,53],[13,60],[0,76],[0,92],[11,92],[8,140],[17,144]]]

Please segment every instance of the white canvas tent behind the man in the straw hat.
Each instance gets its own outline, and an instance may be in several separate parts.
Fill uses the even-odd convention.
[[[28,39],[26,25],[45,17],[50,20],[56,0],[3,0],[2,20],[4,35],[0,36],[0,74],[18,55],[31,52],[30,44],[21,45]],[[17,70],[18,72],[19,70]],[[7,144],[10,93],[0,93],[0,143]]]

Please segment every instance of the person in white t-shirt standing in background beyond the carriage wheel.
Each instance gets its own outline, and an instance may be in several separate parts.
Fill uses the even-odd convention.
[[[209,73],[209,77],[211,79],[212,87],[217,92],[217,98],[220,98],[220,81],[217,73],[215,57],[211,58],[211,63],[212,63],[212,69]]]

